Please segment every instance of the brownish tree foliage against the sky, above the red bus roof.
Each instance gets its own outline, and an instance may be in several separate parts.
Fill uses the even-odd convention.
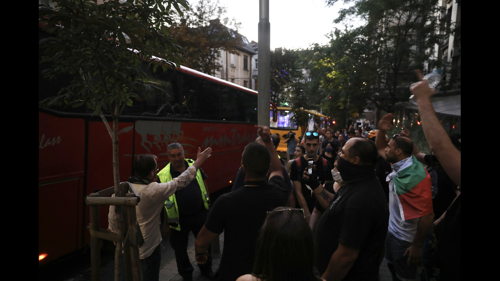
[[[183,9],[183,15],[172,14],[170,35],[184,47],[186,66],[214,75],[221,67],[221,50],[235,52],[241,44],[240,23],[226,17],[226,12],[218,0],[206,0]]]

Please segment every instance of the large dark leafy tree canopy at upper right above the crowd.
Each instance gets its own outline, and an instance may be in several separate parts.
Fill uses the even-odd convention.
[[[333,5],[339,0],[327,0]],[[361,27],[337,29],[326,56],[314,60],[321,69],[322,87],[331,98],[329,111],[342,112],[340,120],[362,114],[375,102],[388,111],[398,101],[407,100],[409,85],[415,82],[414,69],[439,65],[431,57],[438,41],[436,0],[344,0],[352,4],[340,11],[337,23],[364,20]]]

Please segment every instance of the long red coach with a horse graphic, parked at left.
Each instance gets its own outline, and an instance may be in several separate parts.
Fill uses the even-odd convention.
[[[39,101],[61,88],[41,78],[42,68]],[[198,147],[213,148],[213,157],[203,167],[210,192],[231,185],[243,148],[257,137],[257,92],[185,67],[150,74],[149,82],[168,95],[153,93],[147,100],[135,100],[120,117],[120,181],[133,174],[140,154],[157,155],[163,168],[167,145],[179,142],[186,158],[195,158]],[[103,121],[83,107],[39,107],[38,252],[47,255],[39,265],[87,244],[84,198],[111,186],[111,139]],[[100,212],[105,228],[108,208]]]

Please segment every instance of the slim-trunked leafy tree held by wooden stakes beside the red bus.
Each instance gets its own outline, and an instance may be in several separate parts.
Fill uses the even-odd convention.
[[[115,196],[120,194],[118,170],[118,118],[135,98],[161,89],[149,84],[142,66],[154,69],[179,65],[182,48],[168,36],[172,19],[169,11],[187,7],[185,0],[135,0],[120,2],[96,0],[58,0],[54,7],[39,7],[39,25],[52,36],[39,42],[42,61],[51,65],[42,73],[57,79],[70,74],[69,86],[57,96],[41,101],[40,106],[86,106],[100,115],[113,144]],[[165,60],[155,58],[162,55]],[[112,127],[104,114],[109,114]],[[117,212],[119,235],[122,216]],[[115,280],[119,279],[116,247]]]

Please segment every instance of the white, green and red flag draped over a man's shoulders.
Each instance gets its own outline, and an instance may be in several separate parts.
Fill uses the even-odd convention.
[[[411,157],[413,163],[392,178],[400,208],[403,208],[403,220],[419,218],[432,211],[431,176],[415,156]]]

